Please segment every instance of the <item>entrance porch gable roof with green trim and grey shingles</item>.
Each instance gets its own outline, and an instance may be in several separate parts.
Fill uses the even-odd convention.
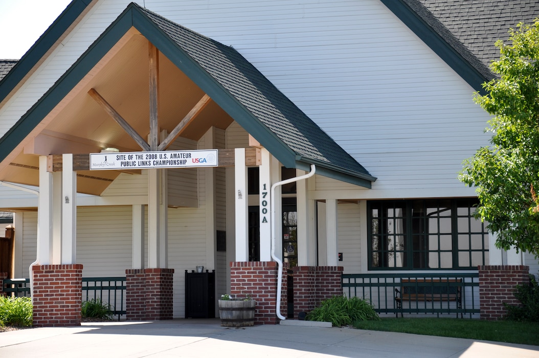
[[[361,164],[232,47],[131,3],[47,93],[0,139],[0,160],[36,127],[125,33],[134,27],[240,126],[289,168],[370,188]]]

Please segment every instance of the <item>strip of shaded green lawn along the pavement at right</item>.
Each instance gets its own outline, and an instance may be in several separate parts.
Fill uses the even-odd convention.
[[[467,338],[539,346],[539,322],[455,318],[383,318],[358,321],[357,329]]]

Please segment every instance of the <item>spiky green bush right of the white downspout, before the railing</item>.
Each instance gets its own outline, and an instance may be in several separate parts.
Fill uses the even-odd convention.
[[[322,301],[320,307],[307,313],[309,321],[331,322],[335,327],[352,325],[356,321],[379,320],[371,302],[357,297],[334,296]]]

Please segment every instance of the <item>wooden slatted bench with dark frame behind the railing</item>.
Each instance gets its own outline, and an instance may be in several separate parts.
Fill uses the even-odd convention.
[[[400,290],[395,288],[395,302],[403,316],[403,301],[428,302],[428,301],[455,301],[457,309],[462,308],[461,283],[462,279],[402,279]],[[453,283],[453,284],[452,284]],[[398,312],[395,313],[398,317]],[[459,314],[457,312],[457,318]],[[462,318],[462,312],[460,313]]]

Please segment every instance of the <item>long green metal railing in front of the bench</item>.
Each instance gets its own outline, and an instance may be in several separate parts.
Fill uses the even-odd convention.
[[[459,291],[457,299],[440,295],[448,286]],[[343,274],[342,288],[348,297],[369,299],[379,314],[466,314],[472,318],[480,313],[479,273]]]

